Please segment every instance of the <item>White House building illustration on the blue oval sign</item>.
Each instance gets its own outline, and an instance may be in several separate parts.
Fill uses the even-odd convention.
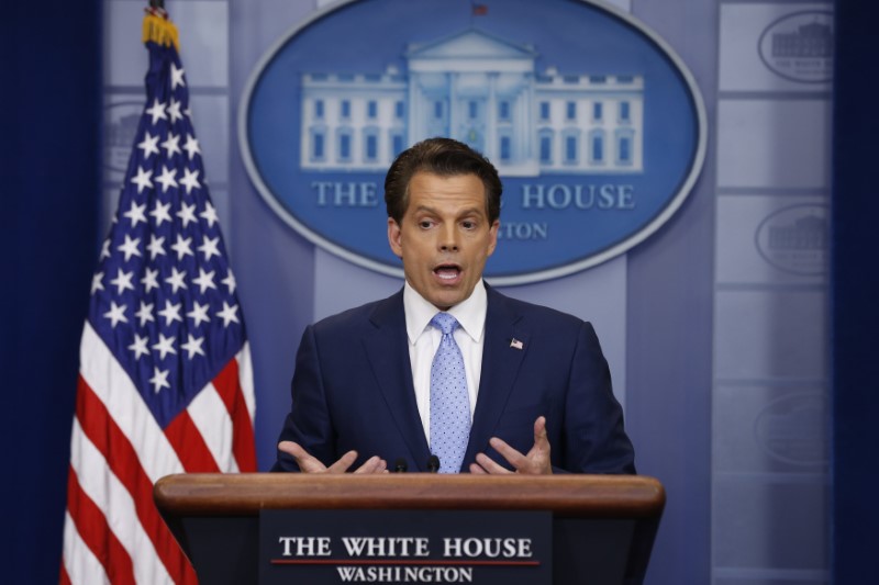
[[[538,74],[534,47],[477,29],[404,58],[405,72],[302,75],[303,170],[385,172],[431,136],[469,144],[504,176],[643,170],[642,76]]]

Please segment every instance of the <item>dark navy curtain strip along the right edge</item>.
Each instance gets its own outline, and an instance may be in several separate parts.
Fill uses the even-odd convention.
[[[836,2],[833,176],[833,577],[876,578],[879,506],[879,262],[876,259],[876,22],[879,8]],[[867,577],[866,575],[869,575]]]

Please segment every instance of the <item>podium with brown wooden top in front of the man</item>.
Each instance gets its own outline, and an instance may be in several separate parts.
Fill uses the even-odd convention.
[[[410,560],[414,556],[419,561],[421,559],[413,551],[419,551],[418,547],[426,547],[426,560],[430,564],[421,565],[411,561],[409,565],[360,564],[370,559],[354,558],[341,566],[365,569],[366,578],[355,581],[354,577],[359,577],[360,573],[346,569],[347,574],[353,575],[352,583],[370,583],[370,573],[367,571],[370,566],[444,566],[439,563],[444,561],[444,538],[465,539],[453,542],[450,551],[463,554],[450,556],[448,560],[452,564],[447,566],[465,566],[459,556],[472,554],[474,558],[468,559],[471,565],[467,565],[474,569],[470,583],[492,583],[487,575],[492,575],[494,571],[483,571],[491,565],[475,564],[477,561],[493,562],[485,559],[490,556],[485,554],[485,542],[481,543],[483,548],[480,551],[479,542],[467,542],[466,539],[531,538],[533,559],[541,562],[539,566],[545,567],[547,574],[552,571],[554,585],[639,585],[644,582],[665,505],[663,484],[653,477],[577,474],[194,473],[160,479],[156,482],[154,497],[163,518],[192,562],[201,585],[256,584],[262,573],[276,569],[288,575],[283,583],[320,583],[311,577],[293,577],[292,572],[288,573],[288,570],[292,570],[285,566],[285,563],[276,563],[279,566],[270,563],[271,559],[296,561],[297,556],[300,560],[312,556],[311,565],[305,567],[321,567],[320,563],[314,562],[321,559],[336,563],[322,569],[330,569],[327,574],[336,575],[336,581],[332,583],[342,583],[335,566],[338,558],[347,559],[351,555],[345,541],[341,539],[365,537],[367,532],[386,538],[429,538],[426,544],[413,540],[408,544],[408,552]],[[283,520],[272,529],[276,532],[271,537],[263,536],[265,539],[271,538],[274,542],[270,543],[271,548],[263,547],[260,553],[260,531],[264,530],[260,517],[286,511],[297,516],[291,516],[292,520]],[[535,511],[552,518],[552,541],[538,536],[544,532],[543,528],[536,528],[536,522],[543,520],[532,520],[531,518],[537,516],[527,516]],[[333,513],[334,524],[338,525],[340,531],[326,532],[330,528],[324,520],[318,525],[307,525],[307,516],[298,516],[300,513],[315,514],[319,518]],[[357,528],[360,532],[353,532],[354,518],[360,513],[372,515],[364,518],[371,518],[369,521],[376,524]],[[488,513],[497,516],[483,516]],[[459,514],[464,516],[458,516]],[[448,530],[442,528],[446,532],[434,533],[425,529],[422,535],[419,533],[419,525],[392,524],[392,519],[400,517],[412,521],[423,519],[424,525],[443,527],[446,526],[444,518],[447,517],[453,524]],[[493,526],[501,526],[501,522],[507,521],[499,518],[509,518],[511,524],[493,532]],[[315,540],[293,540],[300,537]],[[281,538],[287,540],[280,541]],[[320,538],[330,540],[320,541]],[[348,544],[366,547],[363,541]],[[386,547],[385,551],[380,550],[382,545]],[[387,552],[389,545],[388,541],[383,544],[374,543],[375,556],[389,556],[378,554]],[[397,541],[394,545],[401,545],[401,541]],[[285,551],[281,547],[289,549]],[[544,547],[552,547],[552,552],[545,553]],[[325,554],[327,550],[329,555]],[[511,562],[525,556],[519,554],[524,549],[514,550],[515,558],[501,561]],[[285,552],[289,554],[285,555]],[[294,554],[298,552],[302,554]],[[477,554],[479,552],[482,554]],[[364,554],[363,550],[360,554]],[[515,583],[513,578],[531,573],[534,567],[510,566],[510,570],[512,577],[502,578],[501,583]],[[533,573],[536,575],[539,571],[534,570]],[[379,575],[375,570],[371,574],[376,577]],[[407,575],[413,573],[400,574],[403,580],[397,582],[405,583]],[[443,572],[443,575],[446,574],[449,577],[466,575],[463,572]],[[414,575],[425,577],[422,581],[426,582],[429,573],[415,572]],[[435,572],[430,576],[435,576]],[[530,576],[527,583],[536,583],[537,578],[541,577],[535,576],[532,581]],[[458,583],[467,582],[461,580]]]

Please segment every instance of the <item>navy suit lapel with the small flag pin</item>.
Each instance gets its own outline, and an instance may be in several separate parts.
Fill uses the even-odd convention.
[[[519,374],[519,367],[528,347],[527,334],[516,328],[520,315],[512,311],[503,295],[488,286],[487,289],[488,311],[486,339],[482,346],[482,373],[470,441],[467,445],[467,454],[464,457],[465,465],[469,465],[476,453],[488,449],[488,440],[507,407],[513,382]],[[521,348],[513,347],[514,340],[521,342]]]

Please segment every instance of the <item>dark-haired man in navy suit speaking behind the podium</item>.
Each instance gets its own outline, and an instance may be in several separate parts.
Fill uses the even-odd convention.
[[[592,326],[482,281],[501,181],[448,138],[385,180],[403,290],[305,329],[275,470],[634,473]],[[434,471],[434,470],[431,470]]]

